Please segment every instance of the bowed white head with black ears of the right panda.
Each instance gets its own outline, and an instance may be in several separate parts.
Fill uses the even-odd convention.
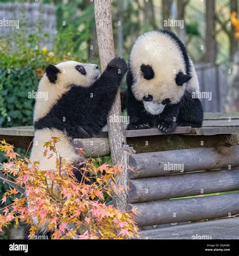
[[[190,75],[186,74],[182,52],[166,34],[151,31],[135,42],[130,68],[132,92],[146,111],[160,114],[165,104],[176,104],[183,97]]]

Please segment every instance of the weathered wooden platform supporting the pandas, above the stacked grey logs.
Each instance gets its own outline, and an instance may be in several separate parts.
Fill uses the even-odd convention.
[[[127,143],[136,153],[236,145],[238,134],[239,113],[205,113],[203,127],[177,127],[169,135],[158,129],[126,131]],[[0,129],[0,140],[5,139],[18,148],[27,149],[33,137],[33,126]],[[73,143],[76,148],[85,149],[86,157],[110,155],[107,132],[100,133],[95,138],[74,139]]]

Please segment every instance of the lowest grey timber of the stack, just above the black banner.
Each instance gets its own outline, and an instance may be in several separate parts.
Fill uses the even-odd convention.
[[[141,232],[141,239],[239,239],[239,218],[196,222]]]

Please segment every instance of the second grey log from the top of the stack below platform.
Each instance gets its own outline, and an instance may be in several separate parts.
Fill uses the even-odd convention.
[[[129,181],[129,187],[130,203],[234,191],[239,190],[239,167],[232,170],[133,179]]]

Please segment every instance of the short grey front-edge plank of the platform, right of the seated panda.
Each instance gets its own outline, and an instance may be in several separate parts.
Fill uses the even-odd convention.
[[[202,127],[192,128],[190,135],[239,134],[239,127]]]

